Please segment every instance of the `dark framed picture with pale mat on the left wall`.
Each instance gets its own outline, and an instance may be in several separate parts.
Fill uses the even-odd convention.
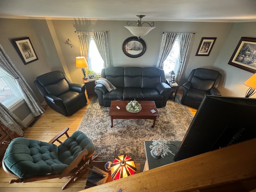
[[[12,43],[25,65],[38,60],[29,37],[12,39]]]

